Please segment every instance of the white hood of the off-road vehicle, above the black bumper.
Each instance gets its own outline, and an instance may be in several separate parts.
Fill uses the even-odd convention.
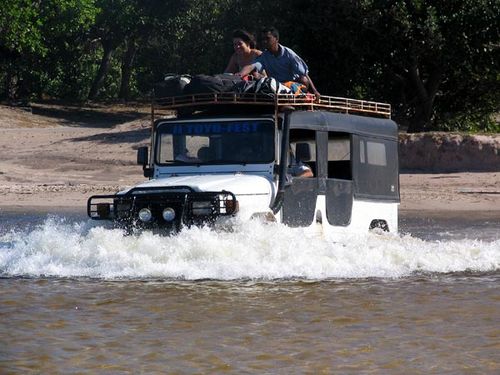
[[[229,191],[235,195],[271,194],[272,182],[262,176],[244,174],[191,175],[158,178],[136,185],[134,188],[189,186],[195,191]],[[123,192],[125,193],[125,192]]]

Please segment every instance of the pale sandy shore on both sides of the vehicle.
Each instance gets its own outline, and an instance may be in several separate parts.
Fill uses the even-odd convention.
[[[75,111],[0,106],[2,212],[85,212],[93,194],[143,181],[136,149],[147,145],[146,107]],[[500,217],[500,172],[402,173],[401,210],[484,211]]]

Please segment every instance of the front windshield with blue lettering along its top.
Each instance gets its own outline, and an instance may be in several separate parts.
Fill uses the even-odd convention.
[[[167,123],[158,128],[158,164],[249,164],[274,160],[269,120]]]

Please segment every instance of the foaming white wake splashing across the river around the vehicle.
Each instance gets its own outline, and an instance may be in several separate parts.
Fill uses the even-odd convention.
[[[321,280],[499,269],[500,240],[368,234],[339,244],[257,221],[232,232],[191,228],[164,237],[52,218],[28,232],[0,235],[4,277]]]

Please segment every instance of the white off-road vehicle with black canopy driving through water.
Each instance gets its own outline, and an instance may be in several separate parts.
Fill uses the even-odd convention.
[[[233,93],[161,103],[152,107],[151,149],[138,150],[149,181],[90,197],[90,218],[166,232],[235,218],[333,234],[397,231],[398,136],[388,104]],[[292,176],[294,163],[313,177]]]

